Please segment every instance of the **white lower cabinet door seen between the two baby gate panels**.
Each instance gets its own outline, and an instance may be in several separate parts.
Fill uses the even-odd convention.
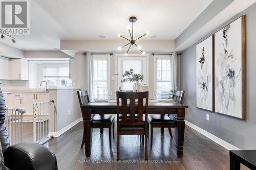
[[[26,111],[26,115],[33,114],[33,103],[35,103],[34,93],[24,93],[23,94],[23,108]]]

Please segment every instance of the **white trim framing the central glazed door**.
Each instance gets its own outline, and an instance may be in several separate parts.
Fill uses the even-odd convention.
[[[118,65],[118,57],[146,57],[146,86],[148,86],[148,54],[128,54],[127,56],[125,54],[115,54],[115,63],[116,63],[116,68],[115,68],[115,84],[116,84],[116,91],[119,89],[119,82],[118,82],[118,76],[117,74],[122,74],[119,72],[119,65]]]

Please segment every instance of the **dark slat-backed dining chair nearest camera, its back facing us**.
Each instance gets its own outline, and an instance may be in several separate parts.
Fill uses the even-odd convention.
[[[117,114],[117,160],[120,159],[120,135],[145,135],[145,160],[147,160],[147,123],[145,120],[147,120],[148,91],[117,91],[116,96],[116,111],[122,115],[120,118],[119,114]],[[119,106],[119,99],[121,99],[121,106]],[[127,105],[127,99],[129,99],[129,105]],[[144,99],[145,103],[143,102]],[[130,118],[127,118],[128,114]],[[145,119],[143,119],[143,114],[145,114]]]

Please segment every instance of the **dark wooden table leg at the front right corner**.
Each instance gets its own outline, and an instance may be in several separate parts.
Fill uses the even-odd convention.
[[[176,135],[176,150],[177,156],[183,156],[183,144],[184,144],[184,130],[185,130],[185,109],[177,109],[177,115],[175,115],[175,135]]]

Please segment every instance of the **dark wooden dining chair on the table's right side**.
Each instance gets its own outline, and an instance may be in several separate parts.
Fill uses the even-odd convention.
[[[174,102],[182,104],[185,91],[174,91],[173,99]],[[150,128],[150,148],[153,144],[153,130],[154,128],[161,128],[161,134],[164,134],[164,128],[168,128],[170,137],[173,138],[172,130],[170,128],[175,128],[175,122],[173,117],[170,115],[160,114],[160,115],[149,115],[147,122]],[[149,132],[149,130],[148,130]]]

